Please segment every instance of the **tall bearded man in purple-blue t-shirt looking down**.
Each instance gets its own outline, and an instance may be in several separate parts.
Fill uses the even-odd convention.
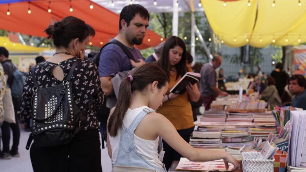
[[[135,62],[116,44],[103,48],[99,59],[101,87],[106,96],[114,95],[111,79],[116,73],[128,71],[133,66],[144,64],[140,51],[134,45],[140,45],[149,26],[149,13],[143,6],[132,4],[125,6],[120,13],[119,33],[114,38],[121,42],[133,55]]]

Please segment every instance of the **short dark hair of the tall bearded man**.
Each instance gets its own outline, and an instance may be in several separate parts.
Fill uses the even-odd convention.
[[[147,9],[138,4],[132,4],[125,6],[121,13],[119,19],[119,30],[122,28],[121,20],[123,19],[126,22],[126,26],[129,27],[130,21],[133,20],[136,14],[139,14],[144,20],[150,20],[150,15]]]

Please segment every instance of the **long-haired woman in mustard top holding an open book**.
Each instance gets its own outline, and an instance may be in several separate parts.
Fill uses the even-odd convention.
[[[158,113],[163,114],[175,127],[179,135],[189,142],[193,132],[194,123],[190,101],[197,102],[200,99],[200,91],[196,84],[188,83],[183,94],[170,93],[174,85],[188,72],[186,67],[186,46],[184,41],[177,36],[170,36],[163,47],[161,57],[156,64],[162,68],[169,78],[169,88],[159,108]],[[189,68],[189,72],[192,70]],[[168,169],[172,161],[180,160],[181,154],[163,140],[163,163]]]

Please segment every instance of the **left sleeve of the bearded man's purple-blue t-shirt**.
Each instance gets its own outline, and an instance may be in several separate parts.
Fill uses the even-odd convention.
[[[120,61],[120,54],[116,50],[103,50],[99,59],[99,76],[115,76],[115,73],[120,71]]]

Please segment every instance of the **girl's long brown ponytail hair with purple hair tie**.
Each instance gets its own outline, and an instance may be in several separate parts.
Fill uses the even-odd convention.
[[[147,86],[155,80],[158,81],[157,88],[162,88],[169,82],[163,70],[153,63],[146,63],[137,67],[131,75],[133,77],[132,81],[130,81],[129,77],[125,77],[122,80],[116,108],[108,121],[107,129],[110,136],[113,137],[117,136],[118,129],[122,127],[122,121],[126,111],[129,109],[133,92],[145,91]]]

